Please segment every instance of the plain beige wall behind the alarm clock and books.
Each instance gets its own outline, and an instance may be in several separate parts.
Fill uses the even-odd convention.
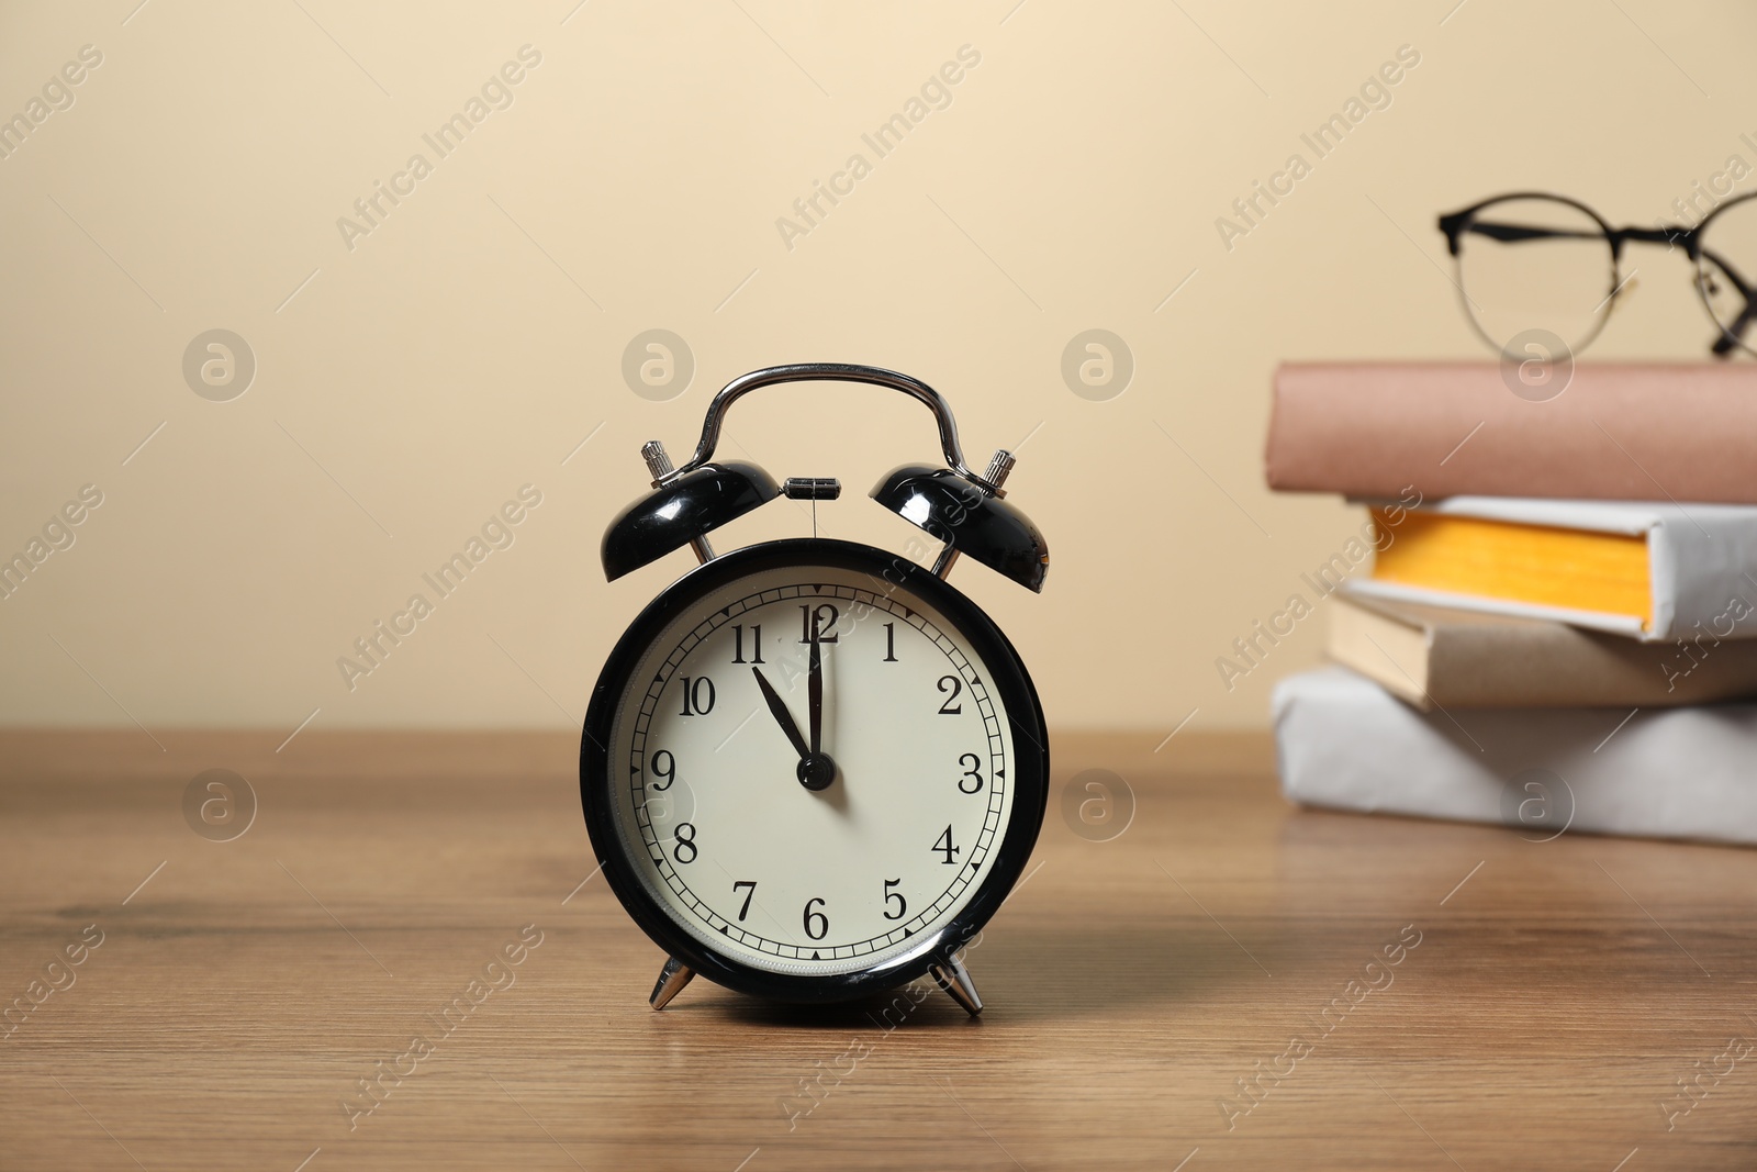
[[[817,358],[928,380],[972,460],[1030,436],[1010,487],[1045,594],[952,580],[1056,726],[1256,726],[1320,619],[1232,692],[1214,659],[1360,524],[1263,490],[1274,365],[1476,357],[1439,211],[1537,186],[1652,221],[1757,162],[1757,11],[1732,0],[135,4],[0,9],[0,114],[102,53],[0,160],[0,552],[104,497],[0,601],[5,724],[564,726],[687,564],[597,569],[638,445],[687,452],[720,383]],[[422,142],[527,44],[508,109],[448,158]],[[861,134],[961,46],[980,63],[878,158]],[[1300,132],[1399,46],[1420,65],[1392,105],[1226,250],[1216,218],[1314,162]],[[432,174],[350,248],[337,218],[416,151]],[[789,248],[777,218],[852,153],[871,174]],[[1683,260],[1638,264],[1594,357],[1701,355]],[[258,364],[230,402],[181,371],[216,327]],[[669,402],[620,376],[652,327],[698,364]],[[1109,402],[1059,373],[1091,327],[1137,364]],[[917,408],[835,387],[741,404],[740,448],[840,476],[821,529],[894,548],[914,529],[864,490],[935,455]],[[527,483],[515,543],[350,691],[351,640]],[[736,534],[806,531],[778,503]]]

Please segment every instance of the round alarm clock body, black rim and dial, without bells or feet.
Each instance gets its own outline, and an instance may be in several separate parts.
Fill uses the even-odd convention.
[[[592,705],[582,792],[606,873],[648,935],[734,988],[907,979],[993,912],[1042,822],[1017,655],[880,550],[708,562],[636,620]]]

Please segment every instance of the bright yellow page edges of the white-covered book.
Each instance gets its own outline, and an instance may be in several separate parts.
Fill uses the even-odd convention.
[[[1372,576],[1451,594],[1636,615],[1653,629],[1646,538],[1476,517],[1372,511],[1379,550]]]

